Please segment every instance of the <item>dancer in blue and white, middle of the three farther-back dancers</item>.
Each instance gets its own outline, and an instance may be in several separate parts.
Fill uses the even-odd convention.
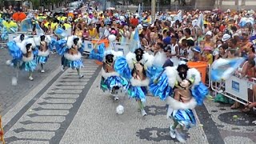
[[[46,64],[50,50],[52,50],[52,40],[50,36],[42,34],[38,42],[38,54],[36,56],[36,61],[41,66],[41,73],[44,73],[44,65]]]

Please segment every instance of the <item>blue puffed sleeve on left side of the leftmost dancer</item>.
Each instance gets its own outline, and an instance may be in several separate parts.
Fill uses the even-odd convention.
[[[18,60],[22,59],[22,50],[16,45],[14,41],[8,42],[7,46],[12,58],[18,59]]]

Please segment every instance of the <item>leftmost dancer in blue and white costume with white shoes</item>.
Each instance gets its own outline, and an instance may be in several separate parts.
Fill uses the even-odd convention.
[[[13,78],[13,85],[17,84],[18,70],[26,70],[29,72],[29,79],[33,81],[33,71],[36,69],[36,62],[34,60],[35,43],[32,38],[27,38],[22,42],[8,42],[8,49],[12,60],[6,62],[7,65],[14,66],[17,69],[17,76]]]

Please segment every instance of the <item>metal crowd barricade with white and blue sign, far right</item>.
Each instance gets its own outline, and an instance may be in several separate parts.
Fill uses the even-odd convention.
[[[226,81],[210,82],[210,86],[215,95],[222,94],[243,105],[255,102],[253,91],[256,88],[256,78],[245,79],[232,75]]]

